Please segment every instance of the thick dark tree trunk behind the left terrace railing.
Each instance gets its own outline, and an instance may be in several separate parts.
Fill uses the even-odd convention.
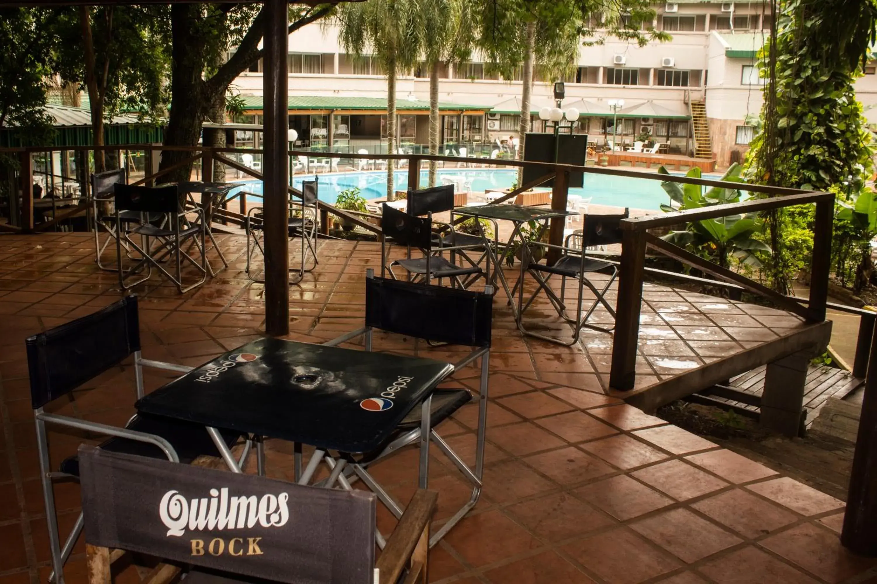
[[[199,4],[173,4],[171,6],[172,73],[171,102],[168,116],[168,130],[164,143],[175,146],[196,146],[201,137],[201,123],[210,107],[208,95],[204,94],[202,79],[204,63],[196,55],[203,53],[204,39],[194,30],[191,23],[201,15]],[[189,151],[162,151],[159,170],[170,168],[186,158]],[[192,163],[175,171],[163,174],[160,182],[181,182],[189,180]]]

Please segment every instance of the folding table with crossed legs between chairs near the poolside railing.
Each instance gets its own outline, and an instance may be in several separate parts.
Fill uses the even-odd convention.
[[[481,222],[475,221],[475,225],[478,226],[478,233],[481,236],[481,239],[484,240],[484,246],[487,248],[488,253],[490,254],[490,260],[494,262],[494,265],[496,265],[496,277],[498,277],[500,282],[503,284],[503,290],[505,290],[506,295],[509,297],[511,312],[515,315],[515,320],[518,321],[520,319],[520,312],[518,310],[518,306],[515,304],[514,296],[515,291],[517,290],[518,286],[520,286],[522,291],[521,301],[523,302],[524,265],[526,264],[526,262],[520,262],[521,270],[514,288],[509,288],[509,282],[505,278],[505,272],[503,271],[502,262],[507,257],[510,257],[515,253],[516,239],[518,240],[518,243],[520,243],[522,253],[530,253],[530,248],[526,245],[524,234],[521,232],[521,226],[524,225],[524,223],[536,222],[538,224],[538,228],[536,231],[536,238],[538,240],[539,238],[541,238],[542,234],[545,233],[545,228],[548,227],[549,220],[555,217],[567,217],[568,215],[576,214],[566,210],[556,211],[554,209],[526,207],[524,205],[481,205],[478,207],[462,207],[454,209],[453,215],[474,217],[476,220],[493,219],[495,221],[498,221],[502,219],[504,221],[512,222],[512,224],[515,226],[514,229],[512,229],[511,231],[508,243],[505,244],[502,255],[497,257],[496,250],[494,250],[494,246],[491,244],[490,238],[484,234],[484,228],[481,225]]]

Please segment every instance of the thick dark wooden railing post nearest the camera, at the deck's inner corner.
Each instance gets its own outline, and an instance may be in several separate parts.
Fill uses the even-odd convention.
[[[643,304],[645,231],[625,229],[618,271],[615,334],[609,384],[614,390],[632,390],[637,379],[639,311]]]

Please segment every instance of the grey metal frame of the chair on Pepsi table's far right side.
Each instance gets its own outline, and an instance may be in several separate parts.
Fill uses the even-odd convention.
[[[374,278],[374,271],[372,269],[368,269],[366,271],[366,278]],[[484,290],[484,295],[492,296],[493,290],[492,286],[486,286]],[[343,342],[351,341],[357,337],[364,337],[364,345],[365,350],[371,351],[373,349],[373,334],[374,327],[362,327],[355,331],[352,331],[347,334],[343,334],[332,341],[326,341],[323,344],[329,347],[337,346]],[[484,347],[477,347],[474,350],[460,359],[460,361],[453,364],[454,369],[461,369],[466,367],[469,363],[474,362],[477,359],[481,359],[481,379],[478,389],[478,430],[475,439],[475,465],[474,468],[469,467],[466,461],[460,457],[459,454],[453,451],[453,448],[447,444],[447,442],[439,436],[439,433],[435,431],[434,428],[431,427],[431,398],[427,398],[424,401],[424,404],[421,408],[421,426],[415,429],[412,429],[402,435],[398,436],[396,440],[393,440],[388,445],[383,447],[381,452],[375,456],[370,456],[367,461],[354,461],[354,460],[342,460],[340,461],[342,464],[346,464],[346,468],[342,469],[340,472],[337,470],[340,464],[336,464],[336,461],[325,453],[319,453],[319,456],[314,456],[310,459],[310,463],[308,468],[305,470],[307,478],[310,479],[310,476],[316,471],[317,466],[320,462],[326,463],[329,468],[332,469],[332,476],[326,481],[339,482],[342,489],[353,489],[351,487],[351,482],[356,481],[357,479],[364,482],[368,489],[372,490],[375,495],[378,496],[381,503],[387,506],[390,512],[396,516],[396,518],[401,518],[403,515],[403,508],[396,500],[387,492],[386,489],[381,487],[381,484],[377,482],[372,475],[368,473],[367,467],[374,464],[377,461],[381,461],[387,458],[391,454],[395,454],[399,452],[404,447],[408,447],[412,444],[420,445],[420,465],[419,465],[419,486],[421,489],[426,489],[429,484],[429,475],[428,475],[428,461],[429,461],[429,444],[431,442],[435,443],[439,450],[444,453],[447,458],[453,462],[453,465],[460,470],[460,473],[466,477],[466,479],[472,483],[473,489],[472,494],[469,497],[469,500],[457,510],[456,513],[450,517],[445,524],[441,526],[439,531],[436,531],[430,538],[430,547],[438,544],[441,538],[444,538],[448,531],[450,531],[454,525],[458,524],[463,517],[466,517],[469,510],[471,510],[476,503],[478,503],[479,498],[481,497],[481,488],[482,488],[482,477],[484,471],[484,445],[485,438],[487,434],[487,415],[488,415],[488,385],[489,385],[489,361],[490,361],[490,345]],[[424,437],[428,436],[429,440],[426,440]],[[301,449],[298,445],[296,445],[296,479],[299,476],[301,465],[302,465],[302,454]],[[322,457],[322,458],[321,458]],[[316,461],[315,461],[316,459]]]

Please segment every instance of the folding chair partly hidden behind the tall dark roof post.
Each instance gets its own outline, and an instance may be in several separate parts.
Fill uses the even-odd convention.
[[[319,233],[319,189],[318,178],[302,181],[302,200],[289,200],[289,237],[299,237],[302,243],[301,264],[296,270],[289,270],[290,284],[298,284],[304,274],[317,267],[317,234]],[[241,195],[243,196],[243,195]],[[264,282],[264,278],[253,275],[253,254],[259,251],[265,257],[264,217],[262,208],[250,209],[246,214],[246,276],[253,282]],[[310,260],[308,259],[310,256]],[[312,263],[311,263],[312,261]]]

